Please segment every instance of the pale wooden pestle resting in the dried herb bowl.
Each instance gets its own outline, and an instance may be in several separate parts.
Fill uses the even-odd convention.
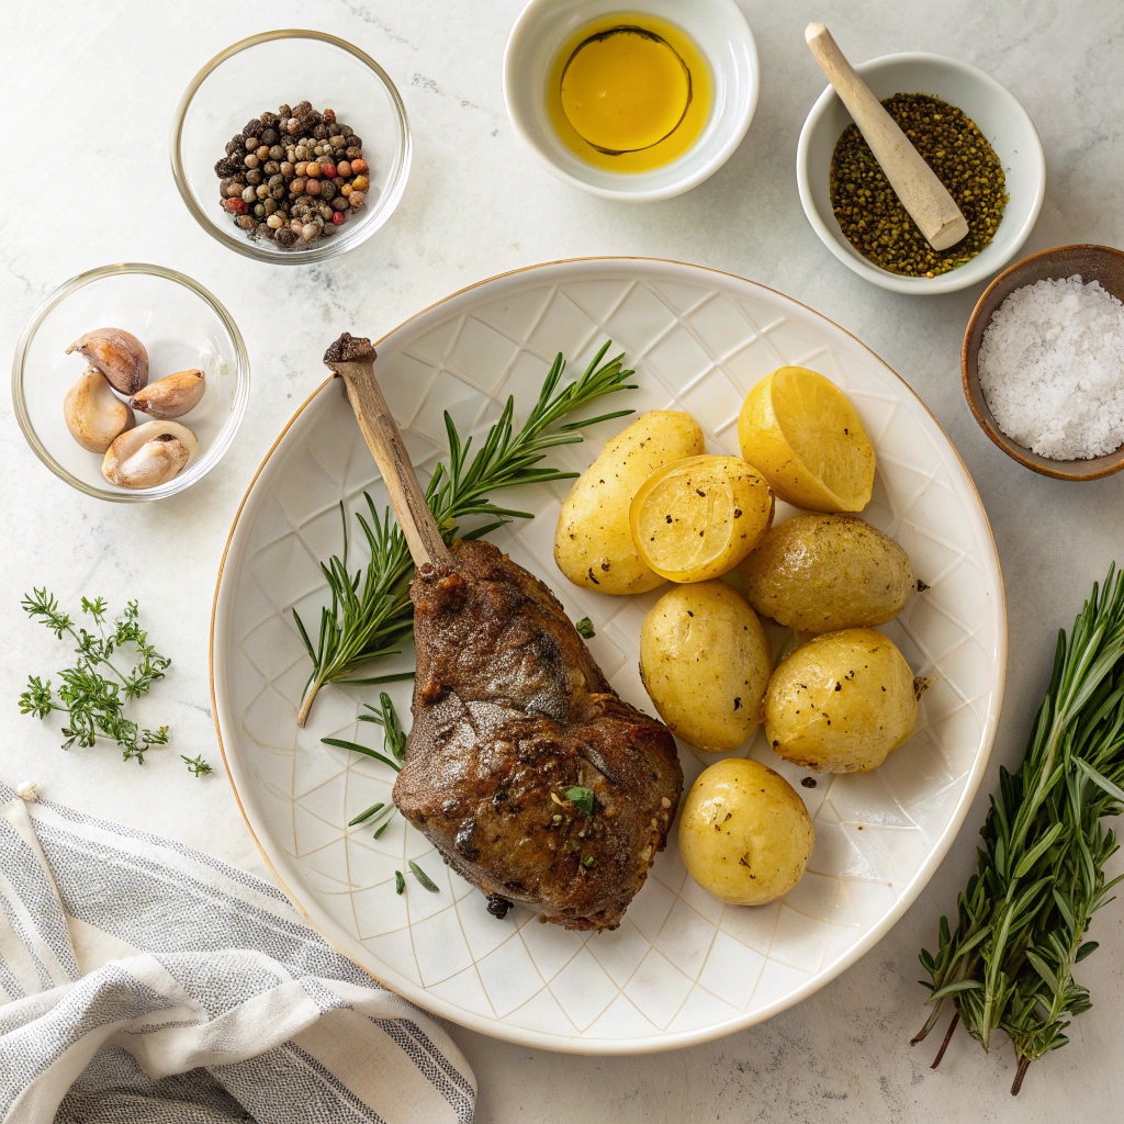
[[[968,220],[948,188],[855,73],[831,31],[809,24],[804,37],[921,233],[934,250],[954,246],[968,234]]]

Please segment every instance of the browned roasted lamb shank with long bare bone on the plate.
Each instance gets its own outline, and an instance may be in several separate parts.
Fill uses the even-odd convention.
[[[620,699],[558,598],[487,542],[450,550],[374,378],[342,375],[417,566],[414,727],[395,803],[502,916],[616,928],[667,843],[683,776],[667,727]]]

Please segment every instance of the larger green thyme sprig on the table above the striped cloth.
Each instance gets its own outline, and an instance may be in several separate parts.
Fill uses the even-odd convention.
[[[46,718],[53,711],[65,714],[64,750],[74,744],[91,746],[98,738],[108,738],[121,747],[126,761],[132,759],[143,764],[147,750],[166,744],[167,726],[148,729],[125,716],[126,701],[147,695],[172,662],[148,643],[148,634],[138,623],[136,601],[129,601],[119,617],[109,620],[103,598],[91,601],[83,597],[82,613],[90,617],[97,632],[76,625],[46,589],[25,596],[22,607],[58,640],[70,636],[78,659],[73,668],[58,672],[62,686],[57,695],[49,679],[43,682],[39,676],[29,676],[27,690],[19,697],[21,714],[33,714],[36,718]],[[123,671],[114,661],[120,662],[119,655],[126,646],[135,650],[136,663]]]

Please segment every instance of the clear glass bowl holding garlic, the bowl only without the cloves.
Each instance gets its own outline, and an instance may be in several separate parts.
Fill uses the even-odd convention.
[[[111,484],[102,457],[79,445],[63,418],[66,391],[85,370],[66,348],[103,327],[125,328],[145,345],[149,384],[189,368],[207,379],[202,399],[176,419],[199,447],[178,477],[155,488]],[[60,285],[36,310],[16,347],[11,393],[24,436],[56,477],[98,499],[163,499],[201,480],[230,447],[250,399],[250,357],[230,314],[199,282],[161,265],[102,265]],[[147,420],[137,414],[138,425]]]

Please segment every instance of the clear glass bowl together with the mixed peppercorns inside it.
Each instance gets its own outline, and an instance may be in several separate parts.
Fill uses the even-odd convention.
[[[386,71],[321,31],[269,31],[228,47],[192,79],[172,130],[176,187],[200,226],[280,263],[366,241],[401,199],[410,153]]]

